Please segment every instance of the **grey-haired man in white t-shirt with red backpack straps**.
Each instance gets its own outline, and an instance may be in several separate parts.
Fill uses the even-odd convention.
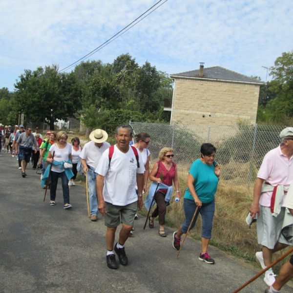
[[[129,146],[133,129],[130,125],[120,125],[116,129],[117,144],[107,149],[96,168],[98,209],[105,219],[108,268],[117,269],[115,252],[123,266],[128,264],[124,244],[133,228],[137,208],[143,206],[142,192],[145,167],[141,153]],[[137,183],[138,195],[135,191]],[[122,220],[119,240],[115,244],[115,232]]]

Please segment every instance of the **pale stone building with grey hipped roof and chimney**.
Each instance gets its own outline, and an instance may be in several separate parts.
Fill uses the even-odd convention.
[[[174,80],[171,123],[256,123],[259,89],[265,83],[220,66],[170,75]]]

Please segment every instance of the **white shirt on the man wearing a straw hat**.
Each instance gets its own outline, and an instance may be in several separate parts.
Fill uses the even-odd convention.
[[[84,145],[80,157],[86,161],[86,165],[96,168],[103,152],[109,147],[110,144],[107,142],[104,142],[103,145],[99,147],[96,146],[93,141],[90,141]]]

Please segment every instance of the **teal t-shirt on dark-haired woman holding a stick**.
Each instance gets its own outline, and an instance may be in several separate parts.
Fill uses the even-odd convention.
[[[195,160],[189,169],[190,175],[194,178],[195,192],[203,204],[208,204],[215,198],[219,179],[214,173],[214,169],[214,165],[206,165],[200,159]],[[188,187],[184,198],[194,200]]]

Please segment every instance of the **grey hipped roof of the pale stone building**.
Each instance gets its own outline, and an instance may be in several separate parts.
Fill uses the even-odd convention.
[[[217,80],[217,81],[223,81],[223,82],[240,82],[240,83],[248,83],[248,84],[252,83],[252,84],[259,84],[259,85],[266,84],[257,79],[228,70],[221,66],[204,68],[204,76],[199,76],[198,74],[199,74],[199,69],[182,72],[182,73],[171,74],[170,78],[210,79],[214,81]]]

